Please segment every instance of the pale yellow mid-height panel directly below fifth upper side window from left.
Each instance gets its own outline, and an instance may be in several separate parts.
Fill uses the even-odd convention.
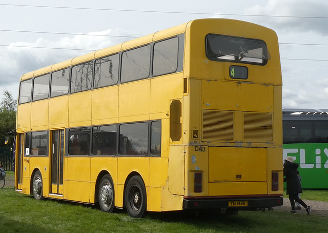
[[[92,124],[116,123],[118,116],[118,86],[93,90],[92,93]]]

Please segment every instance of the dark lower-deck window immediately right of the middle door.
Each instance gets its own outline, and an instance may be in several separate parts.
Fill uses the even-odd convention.
[[[90,153],[89,127],[70,129],[68,135],[68,154],[83,156]]]

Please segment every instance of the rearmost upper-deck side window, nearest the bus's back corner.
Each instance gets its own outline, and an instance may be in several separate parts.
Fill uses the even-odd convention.
[[[154,45],[153,75],[174,73],[178,66],[177,37],[166,41],[157,42]]]

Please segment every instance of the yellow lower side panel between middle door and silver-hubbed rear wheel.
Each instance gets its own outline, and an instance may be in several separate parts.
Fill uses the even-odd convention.
[[[90,202],[90,159],[90,157],[67,157],[68,200]]]

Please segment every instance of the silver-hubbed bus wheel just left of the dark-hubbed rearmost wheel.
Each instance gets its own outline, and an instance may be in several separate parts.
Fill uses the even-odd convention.
[[[98,201],[100,209],[112,213],[115,208],[114,185],[109,174],[101,178],[98,189]]]

